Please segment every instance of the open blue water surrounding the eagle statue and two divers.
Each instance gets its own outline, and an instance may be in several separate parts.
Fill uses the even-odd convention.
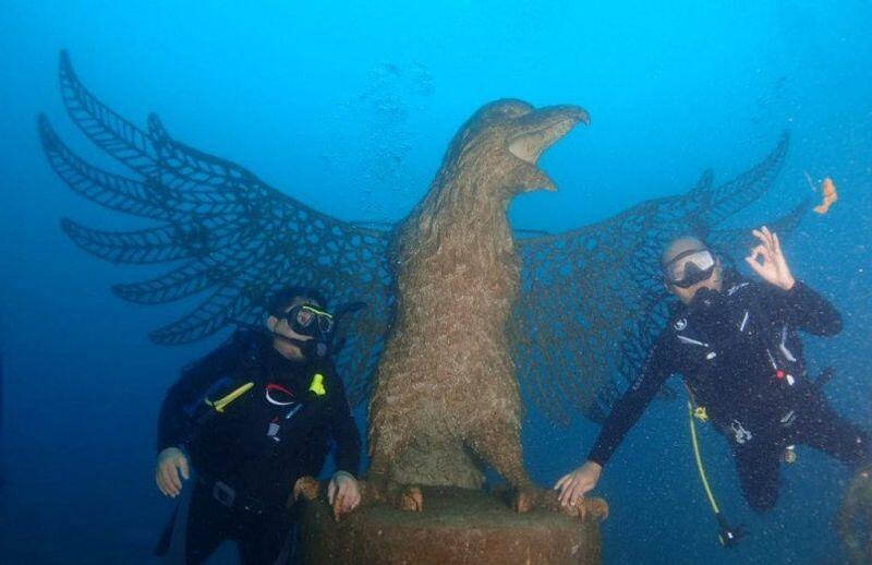
[[[108,265],[60,231],[64,216],[106,229],[142,225],[73,194],[41,154],[35,118],[45,111],[74,149],[114,167],[64,115],[61,48],[123,116],[144,123],[156,111],[185,143],[346,219],[401,218],[457,128],[495,98],[578,104],[593,120],[543,157],[560,192],[516,201],[520,228],[597,221],[681,193],[706,167],[726,180],[787,129],[776,196],[755,214],[815,197],[803,171],[840,189],[833,211],[807,217],[786,252],[847,320],[838,337],[808,340],[812,365],[837,366],[827,387],[834,404],[872,424],[868,1],[255,4],[2,4],[0,561],[149,562],[171,508],[153,482],[159,402],[178,368],[219,339],[152,345],[147,330],[190,304],[122,302],[111,284],[156,271]],[[708,432],[703,449],[725,512],[752,532],[735,552],[720,549],[686,425],[681,402],[652,406],[606,469],[606,563],[844,558],[832,521],[845,469],[800,450],[778,507],[754,516]],[[550,484],[580,464],[596,431],[581,417],[562,428],[532,411],[524,442],[536,480]]]

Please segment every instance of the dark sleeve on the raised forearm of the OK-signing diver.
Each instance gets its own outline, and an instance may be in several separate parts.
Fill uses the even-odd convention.
[[[841,316],[833,304],[801,280],[787,291],[775,287],[766,290],[779,317],[795,328],[815,336],[834,336],[841,332]]]

